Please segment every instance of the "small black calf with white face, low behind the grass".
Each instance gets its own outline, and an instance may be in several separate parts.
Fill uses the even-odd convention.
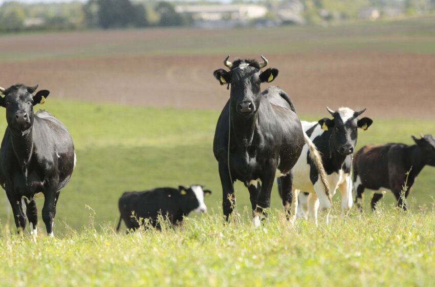
[[[116,231],[119,231],[122,220],[128,230],[136,230],[143,220],[160,229],[159,215],[167,217],[172,224],[180,224],[191,211],[207,212],[204,197],[210,194],[211,191],[200,185],[124,192],[118,201],[121,215]]]

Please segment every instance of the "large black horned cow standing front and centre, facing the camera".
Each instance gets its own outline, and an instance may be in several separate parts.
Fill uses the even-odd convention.
[[[228,57],[224,65],[230,70],[213,72],[221,85],[231,86],[230,99],[217,121],[213,141],[222,183],[223,212],[228,220],[233,210],[233,183],[238,179],[248,187],[253,222],[258,226],[260,216],[264,217],[265,209],[270,206],[270,193],[277,172],[285,175],[280,196],[288,214],[292,168],[305,141],[313,148],[312,155],[317,155],[320,170],[322,165],[315,146],[302,130],[289,96],[278,87],[261,93],[260,84],[273,81],[278,70],[269,68],[260,72],[268,63],[263,56],[263,63],[250,59],[236,59],[231,63]],[[258,179],[262,185],[257,183]]]

